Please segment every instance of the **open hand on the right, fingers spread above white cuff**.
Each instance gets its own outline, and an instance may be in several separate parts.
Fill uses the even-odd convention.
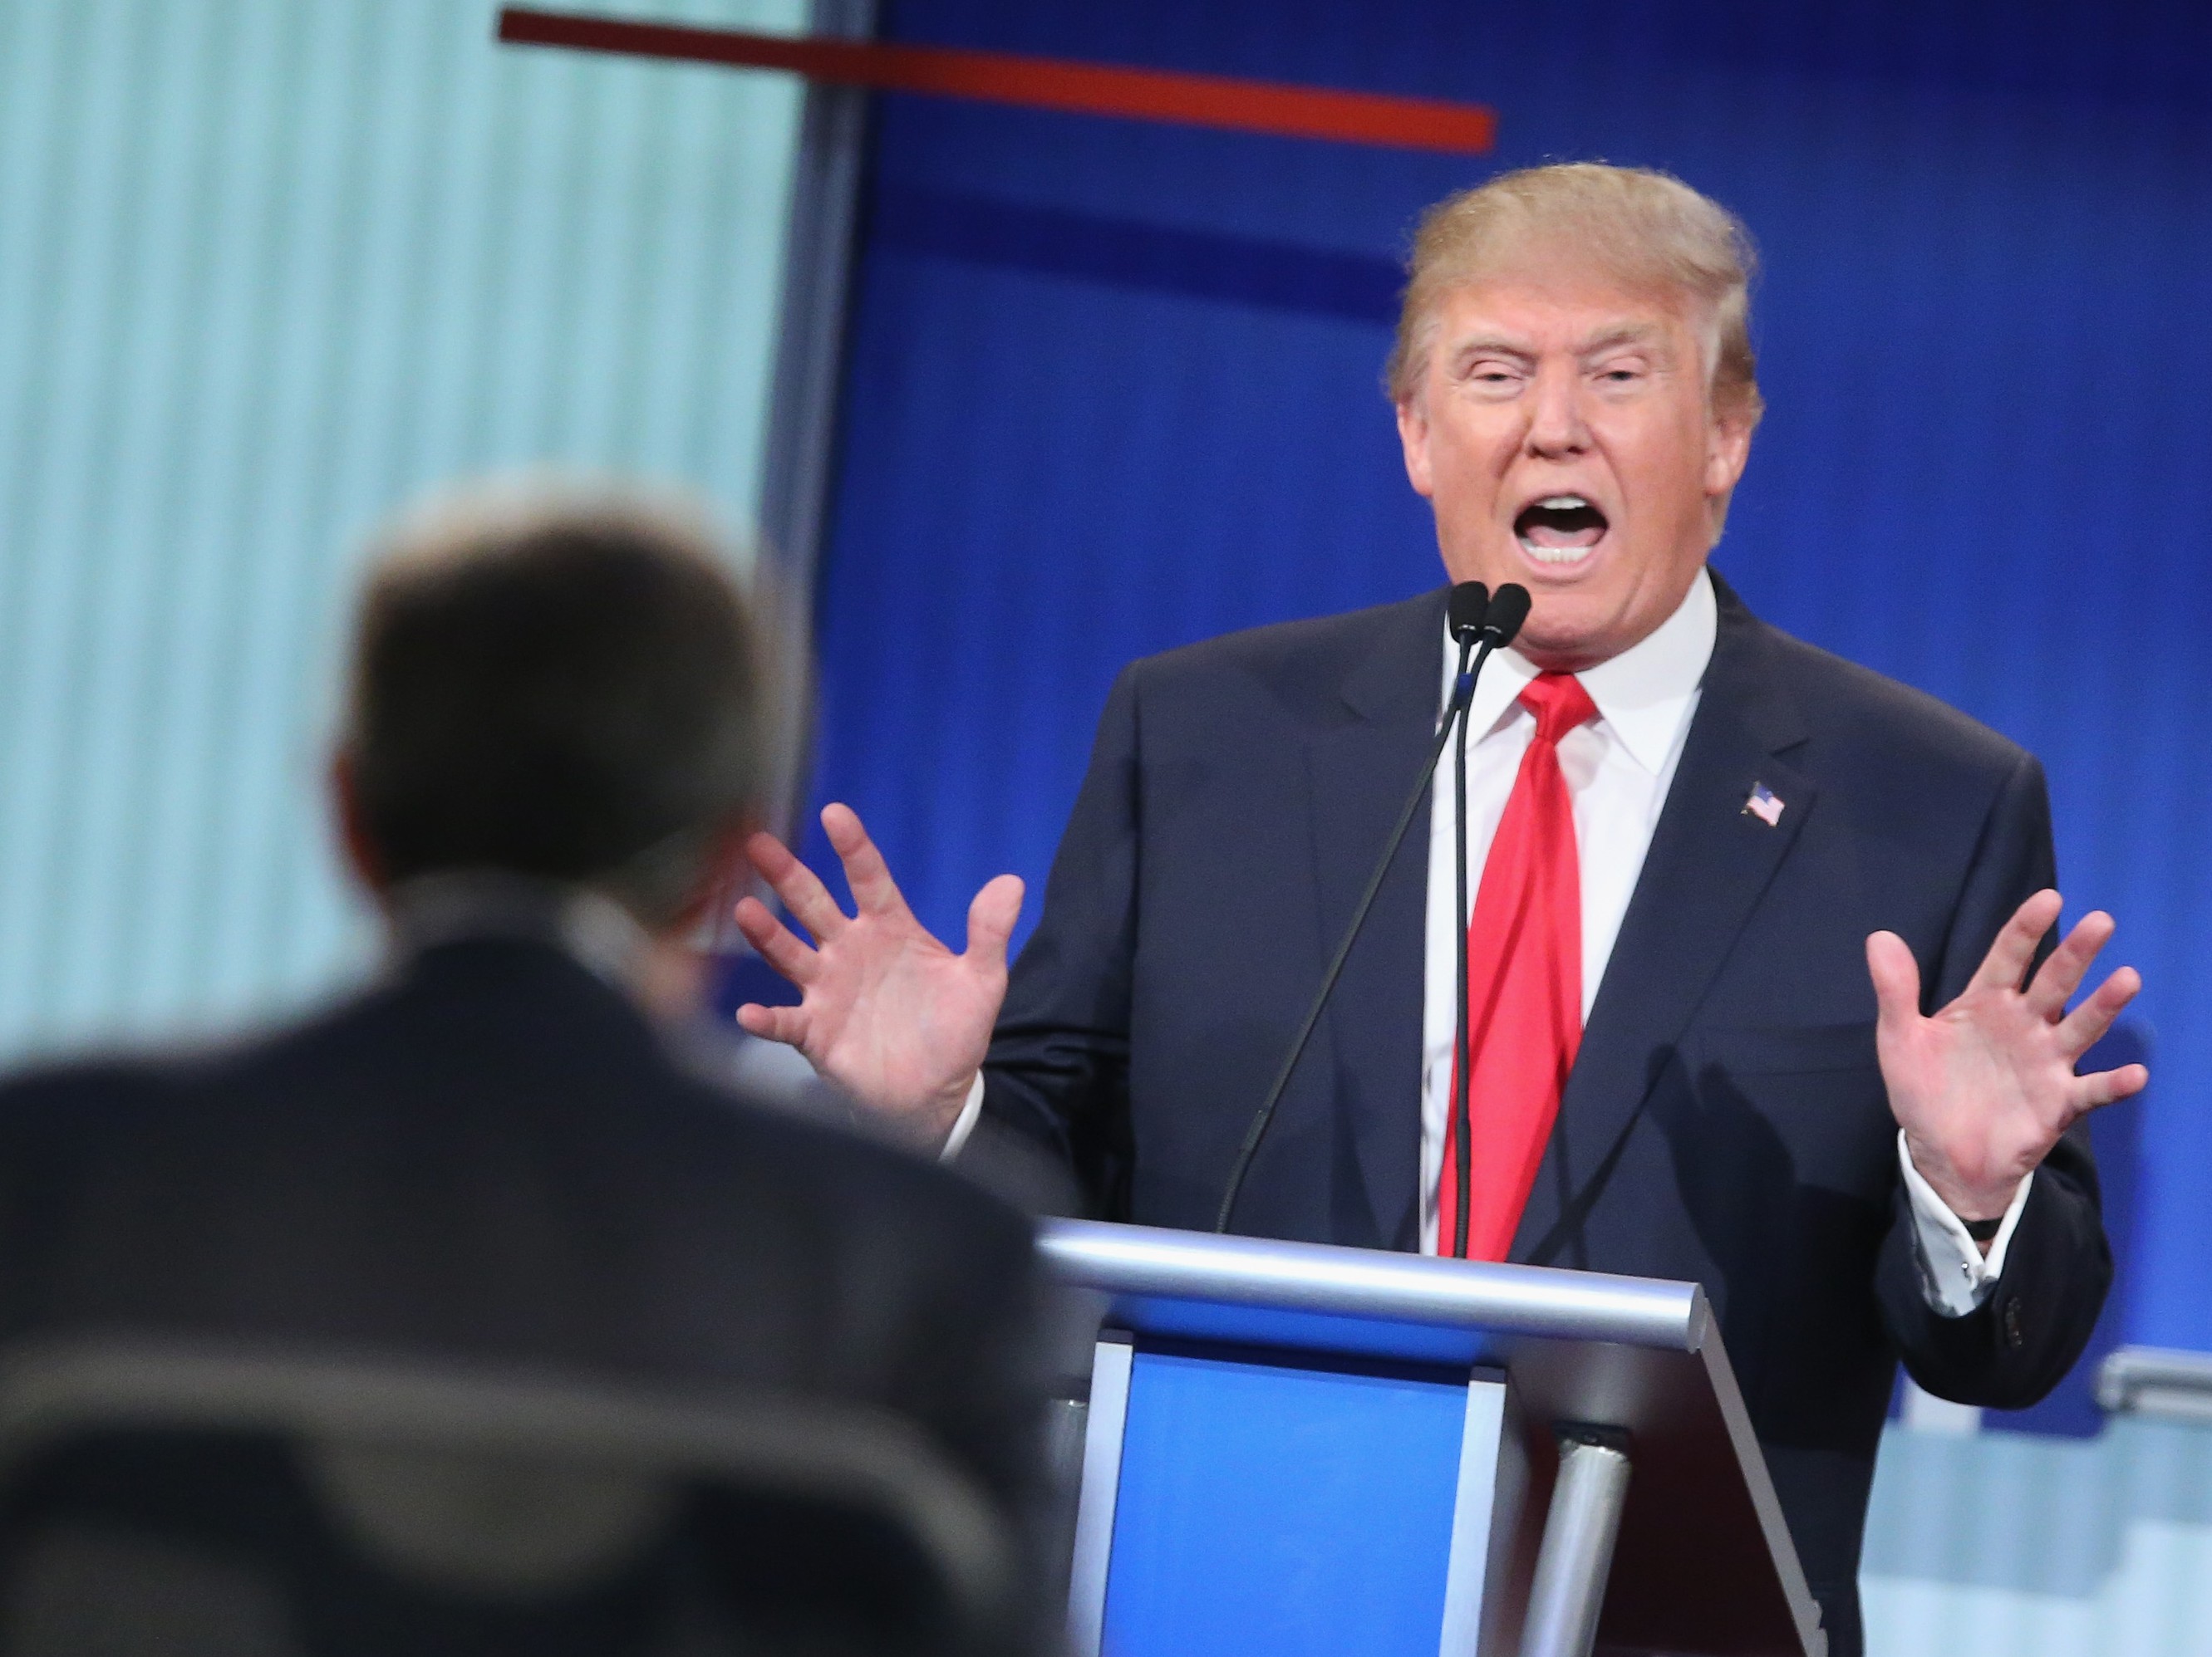
[[[1913,1168],[1960,1219],[2000,1217],[2066,1128],[2150,1082],[2141,1064],[2075,1075],[2075,1062],[2143,987],[2135,967],[2121,967],[2066,1011],[2112,938],[2112,916],[2081,916],[2022,987],[2057,918],[2057,892],[2022,903],[1973,982],[1933,1018],[1920,1015],[1920,965],[1905,940],[1893,931],[1867,938],[1889,1108]]]

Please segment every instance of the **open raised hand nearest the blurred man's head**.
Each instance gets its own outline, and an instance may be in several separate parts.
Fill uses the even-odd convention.
[[[814,872],[772,834],[745,856],[814,934],[801,942],[759,898],[737,905],[737,927],[770,967],[799,984],[799,1007],[737,1009],[752,1035],[787,1042],[814,1071],[922,1146],[960,1119],[1006,998],[1006,938],[1022,914],[1022,880],[1002,874],[969,905],[969,947],[956,956],[914,918],[883,852],[847,805],[823,810],[830,845],[858,905],[847,916]]]

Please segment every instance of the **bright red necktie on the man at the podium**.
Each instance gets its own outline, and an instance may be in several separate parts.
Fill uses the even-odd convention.
[[[1595,719],[1597,704],[1568,673],[1537,675],[1520,704],[1535,715],[1535,737],[1498,819],[1467,929],[1467,1051],[1473,1075],[1467,1106],[1473,1146],[1467,1259],[1475,1261],[1502,1261],[1513,1248],[1513,1230],[1559,1115],[1566,1073],[1575,1069],[1575,1049],[1582,1046],[1582,863],[1575,856],[1575,805],[1559,774],[1559,739]],[[1455,1117],[1453,1111],[1444,1130],[1438,1254],[1458,1252]]]

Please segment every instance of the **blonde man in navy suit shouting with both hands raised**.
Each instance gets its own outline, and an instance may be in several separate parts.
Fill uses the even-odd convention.
[[[2068,1011],[2112,920],[2055,938],[2037,761],[1765,626],[1708,564],[1761,414],[1750,263],[1723,208],[1628,168],[1513,173],[1425,219],[1389,365],[1407,476],[1449,577],[1533,613],[1234,1230],[1703,1283],[1854,1653],[1896,1363],[1995,1407],[2066,1372],[2110,1279],[2077,1124],[2148,1077],[2075,1075],[2139,980]],[[741,905],[803,1002],[739,1018],[925,1146],[1022,1135],[1099,1217],[1210,1228],[1451,670],[1444,591],[1133,664],[1011,980],[1013,876],[956,956],[849,810],[823,819],[858,916],[761,838],[814,945]]]

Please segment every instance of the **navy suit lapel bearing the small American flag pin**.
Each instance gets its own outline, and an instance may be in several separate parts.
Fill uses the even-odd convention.
[[[1646,1095],[1816,805],[1812,781],[1785,759],[1805,728],[1763,673],[1765,628],[1714,584],[1712,666],[1513,1239],[1515,1261],[1586,1263],[1582,1223]],[[1745,812],[1759,785],[1783,803],[1774,823]]]

